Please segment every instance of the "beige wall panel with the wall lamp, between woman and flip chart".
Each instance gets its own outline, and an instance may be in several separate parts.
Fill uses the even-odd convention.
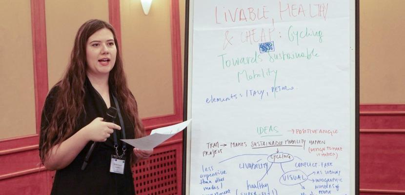
[[[170,0],[153,0],[145,16],[140,0],[121,0],[123,63],[140,116],[172,114]]]

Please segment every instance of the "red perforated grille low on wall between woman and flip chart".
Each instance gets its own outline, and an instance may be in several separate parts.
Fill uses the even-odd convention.
[[[132,170],[136,195],[177,195],[176,150],[154,154]]]

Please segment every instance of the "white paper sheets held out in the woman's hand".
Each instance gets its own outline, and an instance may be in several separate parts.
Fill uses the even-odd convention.
[[[138,139],[121,139],[121,140],[141,150],[152,150],[153,148],[161,144],[163,141],[181,132],[184,128],[187,127],[188,124],[190,124],[190,121],[191,119],[175,125],[154,129],[152,130],[149,136],[141,137]]]

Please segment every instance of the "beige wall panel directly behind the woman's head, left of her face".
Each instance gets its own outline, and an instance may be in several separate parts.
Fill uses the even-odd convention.
[[[81,24],[108,16],[108,0],[45,0],[49,89],[66,69]]]

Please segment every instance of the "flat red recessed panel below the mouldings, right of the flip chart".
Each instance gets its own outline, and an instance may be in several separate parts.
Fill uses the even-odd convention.
[[[405,190],[404,133],[362,133],[360,149],[361,188]]]

